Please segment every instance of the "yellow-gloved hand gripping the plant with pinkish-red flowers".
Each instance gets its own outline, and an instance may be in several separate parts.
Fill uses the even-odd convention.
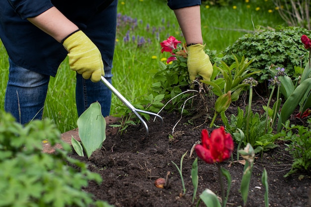
[[[210,57],[204,52],[204,46],[195,44],[187,47],[188,50],[188,72],[191,81],[195,79],[196,75],[201,75],[203,80],[211,80],[213,73],[213,65]]]

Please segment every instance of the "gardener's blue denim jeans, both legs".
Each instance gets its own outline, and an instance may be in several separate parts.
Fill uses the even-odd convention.
[[[104,69],[105,78],[111,82],[111,68],[105,62]],[[32,119],[42,119],[49,81],[49,75],[16,66],[9,60],[9,78],[5,91],[4,110],[11,113],[20,124],[26,124]],[[78,116],[96,101],[101,105],[102,115],[108,116],[111,106],[111,91],[101,81],[93,83],[77,73]]]

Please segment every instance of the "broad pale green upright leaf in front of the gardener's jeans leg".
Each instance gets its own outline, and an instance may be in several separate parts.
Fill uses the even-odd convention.
[[[87,157],[102,146],[106,139],[106,121],[98,102],[92,103],[78,118],[79,137]]]

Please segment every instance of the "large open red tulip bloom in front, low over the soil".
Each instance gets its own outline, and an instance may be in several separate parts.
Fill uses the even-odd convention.
[[[231,157],[233,151],[233,139],[230,134],[221,127],[212,132],[209,137],[207,130],[202,130],[202,144],[195,146],[197,155],[209,164],[222,162]]]

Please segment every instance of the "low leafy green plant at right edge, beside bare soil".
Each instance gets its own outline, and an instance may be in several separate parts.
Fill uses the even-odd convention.
[[[310,123],[309,123],[310,124]],[[304,126],[290,126],[286,121],[284,129],[275,135],[276,138],[288,141],[286,150],[293,156],[291,170],[285,177],[298,172],[299,170],[311,173],[311,128]]]

